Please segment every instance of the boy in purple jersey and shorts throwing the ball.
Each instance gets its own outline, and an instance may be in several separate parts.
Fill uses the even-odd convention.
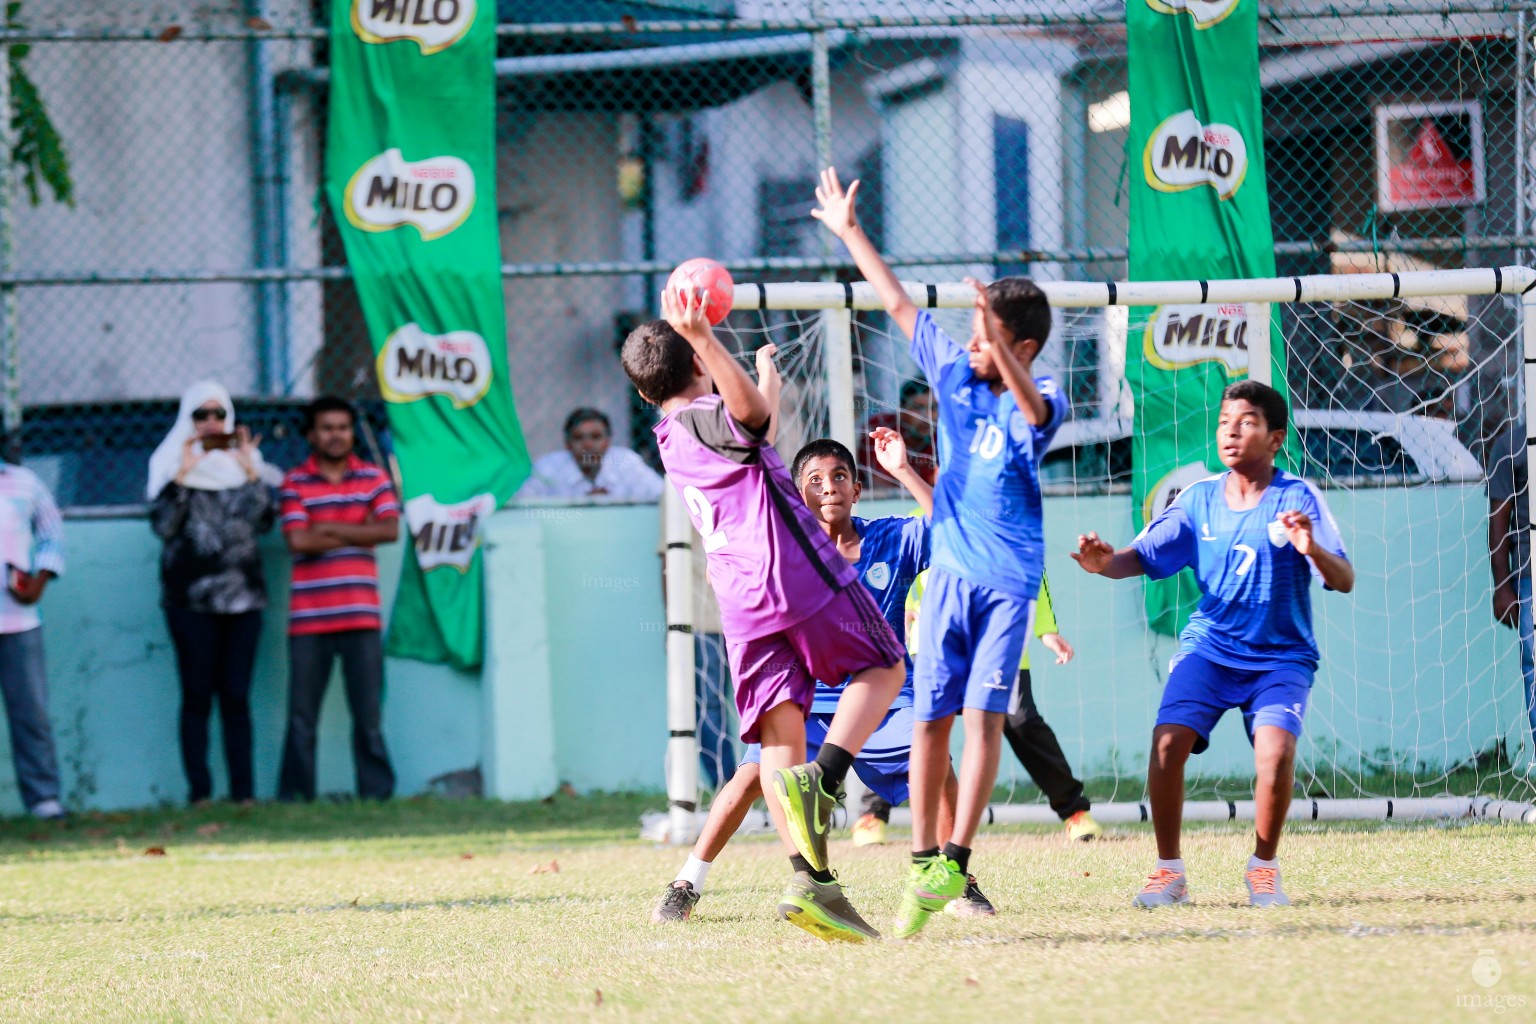
[[[905,648],[766,444],[773,405],[714,336],[693,289],[624,341],[624,370],[659,405],[656,442],[703,539],[740,735],[762,745],[768,801],[794,878],[779,915],[823,940],[876,932],[833,878],[826,827],[854,752],[902,688]],[[849,679],[816,761],[805,717],[817,679]]]

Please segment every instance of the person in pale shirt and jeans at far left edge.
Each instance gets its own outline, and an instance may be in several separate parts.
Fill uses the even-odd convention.
[[[11,757],[22,803],[38,818],[61,818],[58,760],[48,722],[43,620],[37,602],[65,574],[65,520],[37,474],[0,462],[0,689],[11,723]]]

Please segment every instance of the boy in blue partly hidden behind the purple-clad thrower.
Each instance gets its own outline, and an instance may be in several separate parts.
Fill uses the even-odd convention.
[[[826,536],[837,545],[839,553],[854,563],[860,582],[874,596],[885,622],[897,628],[905,616],[906,593],[912,580],[928,568],[931,533],[928,514],[932,513],[934,491],[908,462],[906,445],[899,431],[882,427],[871,431],[869,438],[880,468],[912,491],[923,516],[880,519],[854,516],[854,504],[863,490],[859,471],[852,453],[831,439],[813,441],[800,448],[791,464],[791,474],[800,497],[816,514]],[[842,686],[816,683],[811,715],[805,723],[806,757],[816,757],[840,697]],[[891,702],[891,711],[865,742],[863,749],[854,755],[854,771],[882,800],[892,804],[903,803],[908,798],[911,746],[912,663],[908,660],[906,685]],[[651,912],[653,924],[687,921],[693,913],[694,904],[703,895],[710,867],[736,835],[753,801],[762,795],[760,758],[762,749],[756,743],[748,746],[740,768],[714,797],[693,852]],[[942,827],[948,832],[954,820],[952,775],[942,815],[945,817]],[[974,878],[966,886],[963,903],[971,913],[994,913],[992,904],[982,895]]]

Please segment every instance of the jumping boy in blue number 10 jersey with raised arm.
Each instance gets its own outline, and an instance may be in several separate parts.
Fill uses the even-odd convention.
[[[958,344],[917,309],[859,227],[857,192],[857,181],[845,192],[828,167],[811,216],[842,239],[912,339],[912,359],[938,402],[934,562],[912,676],[912,869],[895,923],[897,938],[906,938],[965,890],[1044,570],[1040,456],[1068,402],[1054,381],[1031,373],[1051,333],[1044,293],[1026,278],[972,281],[971,339]],[[940,849],[938,797],[955,714],[963,714],[966,743],[954,834]]]

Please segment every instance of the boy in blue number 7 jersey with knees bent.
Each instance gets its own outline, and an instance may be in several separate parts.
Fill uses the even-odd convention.
[[[1322,494],[1275,468],[1286,418],[1286,399],[1267,384],[1230,385],[1217,421],[1227,471],[1184,488],[1129,548],[1115,551],[1089,533],[1072,554],[1086,571],[1111,579],[1166,579],[1189,567],[1200,583],[1200,606],[1178,639],[1152,729],[1147,795],[1158,863],[1135,898],[1140,907],[1189,903],[1178,849],[1184,763],[1209,746],[1210,729],[1230,708],[1243,712],[1258,775],[1249,903],[1290,903],[1275,854],[1318,668],[1309,588],[1316,577],[1347,594],[1355,568]]]

